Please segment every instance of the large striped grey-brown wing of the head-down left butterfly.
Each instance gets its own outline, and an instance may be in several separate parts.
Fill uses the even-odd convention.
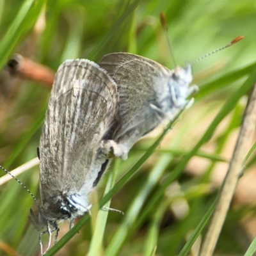
[[[118,110],[116,84],[97,64],[65,61],[54,80],[40,138],[42,201],[83,188],[88,195],[101,165],[100,141],[108,137]]]

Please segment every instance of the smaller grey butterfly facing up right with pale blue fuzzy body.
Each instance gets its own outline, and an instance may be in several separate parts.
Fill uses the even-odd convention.
[[[113,140],[125,154],[164,119],[172,120],[197,88],[189,86],[192,81],[189,64],[169,70],[135,54],[112,53],[104,56],[99,65],[117,85],[120,124]]]

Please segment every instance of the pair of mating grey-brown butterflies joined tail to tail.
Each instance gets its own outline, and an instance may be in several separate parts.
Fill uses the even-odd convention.
[[[56,230],[56,243],[58,221],[70,220],[72,228],[90,211],[90,192],[111,159],[126,159],[136,141],[164,119],[172,120],[197,88],[189,87],[191,81],[189,64],[168,70],[128,53],[108,54],[99,65],[88,60],[61,64],[40,138],[42,207],[35,214],[31,210],[35,227],[47,228],[40,234],[42,254],[42,234],[51,237]]]

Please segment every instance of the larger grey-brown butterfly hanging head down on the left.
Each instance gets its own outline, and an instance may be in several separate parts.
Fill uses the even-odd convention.
[[[109,140],[118,111],[116,84],[106,71],[88,60],[65,61],[56,73],[40,138],[39,212],[31,220],[41,236],[56,230],[58,221],[90,211],[88,195],[112,156],[122,157]],[[117,151],[116,151],[117,149]],[[47,251],[46,250],[46,251]]]

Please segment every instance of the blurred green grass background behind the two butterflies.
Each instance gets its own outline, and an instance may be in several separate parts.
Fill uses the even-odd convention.
[[[195,104],[182,113],[156,152],[113,197],[111,207],[125,215],[106,213],[106,230],[102,224],[100,231],[93,231],[97,230],[93,217],[93,223],[87,221],[56,255],[196,255],[199,240],[192,250],[182,248],[216,198],[250,89],[241,88],[255,74],[256,2],[0,1],[0,164],[8,170],[36,157],[50,93],[40,83],[8,74],[5,65],[12,54],[18,52],[57,70],[68,58],[98,62],[104,54],[123,51],[172,69],[160,12],[166,14],[175,60],[181,66],[236,36],[245,38],[193,65],[200,88]],[[227,111],[214,122],[224,105]],[[129,172],[162,131],[160,127],[143,138],[127,161],[115,164],[116,180]],[[96,191],[99,198],[113,166]],[[246,166],[215,255],[244,255],[256,234],[255,156]],[[19,176],[36,198],[40,198],[38,173],[36,166]],[[96,197],[94,193],[92,200]],[[0,187],[0,255],[40,255],[38,232],[28,218],[31,207],[35,207],[31,196],[15,180]],[[64,223],[60,237],[67,231]],[[91,243],[93,232],[103,236],[102,243],[98,233],[96,243]]]

